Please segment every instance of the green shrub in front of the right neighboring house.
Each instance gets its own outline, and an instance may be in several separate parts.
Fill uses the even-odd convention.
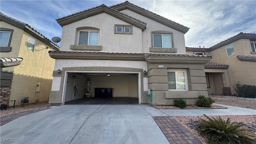
[[[237,96],[245,98],[256,98],[256,86],[234,82],[231,85]]]

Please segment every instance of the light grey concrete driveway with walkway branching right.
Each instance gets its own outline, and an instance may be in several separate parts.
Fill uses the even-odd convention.
[[[219,106],[224,106],[216,104]],[[171,116],[256,115],[256,110],[157,110],[149,105],[62,105],[4,124],[1,143],[15,144],[200,144]]]

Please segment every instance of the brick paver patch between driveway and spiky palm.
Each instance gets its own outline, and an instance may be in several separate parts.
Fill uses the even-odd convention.
[[[170,144],[202,144],[172,116],[152,116]]]

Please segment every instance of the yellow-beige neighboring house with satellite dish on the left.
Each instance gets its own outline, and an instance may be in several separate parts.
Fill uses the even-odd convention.
[[[28,24],[0,15],[1,104],[18,105],[24,97],[48,101],[55,62],[48,52],[58,46]]]

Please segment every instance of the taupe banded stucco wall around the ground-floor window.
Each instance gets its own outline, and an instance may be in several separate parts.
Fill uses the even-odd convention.
[[[208,96],[203,64],[148,63],[148,88],[152,90],[154,105],[173,104],[174,98],[182,98],[187,104],[196,104],[199,95]],[[184,69],[187,73],[187,90],[168,90],[168,70]]]

